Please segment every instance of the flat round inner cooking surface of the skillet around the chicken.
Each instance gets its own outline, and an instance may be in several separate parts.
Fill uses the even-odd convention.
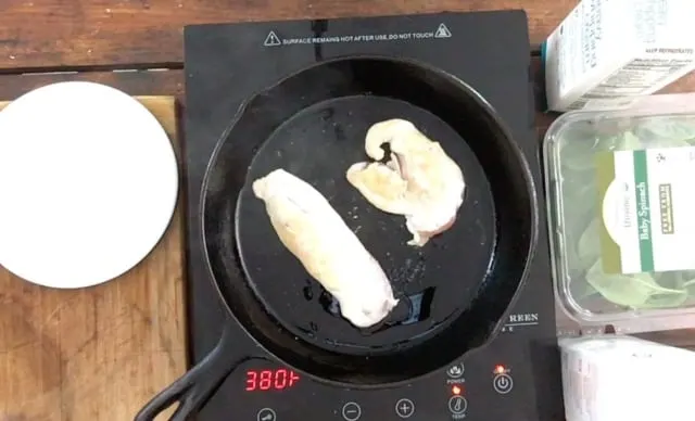
[[[350,165],[368,158],[364,152],[368,128],[390,118],[410,120],[439,141],[462,167],[466,181],[456,224],[421,248],[406,244],[410,234],[403,216],[377,209],[345,179]],[[276,168],[321,192],[381,264],[396,297],[409,297],[402,299],[387,324],[361,331],[337,316],[330,295],[280,243],[263,202],[251,191],[253,180]],[[230,200],[229,206],[233,205]],[[236,210],[239,255],[266,310],[294,335],[353,355],[407,348],[447,327],[483,291],[496,238],[490,184],[466,141],[434,114],[384,97],[327,100],[280,125],[257,150]],[[228,212],[233,215],[233,208]]]

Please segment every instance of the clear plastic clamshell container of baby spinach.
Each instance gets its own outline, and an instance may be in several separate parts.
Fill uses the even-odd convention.
[[[695,327],[695,94],[564,114],[543,152],[558,335]]]

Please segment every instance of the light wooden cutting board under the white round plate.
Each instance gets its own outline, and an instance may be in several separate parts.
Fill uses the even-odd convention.
[[[137,99],[178,154],[175,99]],[[102,285],[51,290],[0,267],[0,421],[132,420],[186,370],[181,208],[179,195],[154,251]]]

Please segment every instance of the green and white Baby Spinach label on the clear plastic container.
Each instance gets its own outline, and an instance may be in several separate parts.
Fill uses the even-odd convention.
[[[596,156],[606,273],[695,269],[695,146]]]

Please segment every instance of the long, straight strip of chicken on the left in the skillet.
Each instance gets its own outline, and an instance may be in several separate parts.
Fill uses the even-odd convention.
[[[252,188],[282,244],[338,301],[345,319],[369,328],[390,314],[399,301],[389,279],[321,193],[283,169]]]

